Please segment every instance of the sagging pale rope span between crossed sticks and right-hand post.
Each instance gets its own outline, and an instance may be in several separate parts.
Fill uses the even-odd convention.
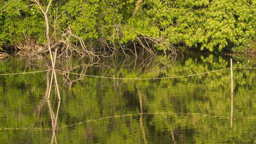
[[[163,78],[114,78],[114,77],[104,77],[104,76],[97,76],[97,75],[80,74],[80,73],[74,73],[74,72],[66,72],[66,73],[75,74],[75,75],[82,75],[82,76],[88,76],[88,77],[104,78],[104,79],[115,79],[115,80],[157,80],[157,79],[174,79],[174,78],[190,77],[190,76],[202,75],[202,74],[211,73],[211,72],[224,71],[224,70],[227,70],[227,69],[230,69],[230,67],[229,68],[225,68],[225,69],[210,71],[210,72],[202,72],[202,73],[196,73],[196,74],[191,74],[191,75],[175,76],[175,77],[163,77]],[[65,71],[61,71],[61,70],[55,70],[55,71],[65,72]]]

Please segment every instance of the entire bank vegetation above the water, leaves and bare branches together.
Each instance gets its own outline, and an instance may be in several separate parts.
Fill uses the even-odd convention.
[[[0,0],[0,47],[25,56],[255,52],[255,30],[256,0]]]

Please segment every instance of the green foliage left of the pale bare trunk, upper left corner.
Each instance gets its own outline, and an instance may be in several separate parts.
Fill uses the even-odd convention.
[[[29,0],[0,2],[0,46],[23,43],[25,40],[45,41],[44,18]]]

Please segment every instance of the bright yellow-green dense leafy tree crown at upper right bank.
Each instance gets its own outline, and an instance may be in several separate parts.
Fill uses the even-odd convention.
[[[256,1],[152,0],[150,9],[171,44],[179,42],[201,50],[247,45],[255,36]]]

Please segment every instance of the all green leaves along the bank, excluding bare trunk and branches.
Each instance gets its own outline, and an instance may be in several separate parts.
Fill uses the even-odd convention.
[[[41,1],[44,8],[47,3]],[[256,36],[256,0],[53,0],[49,20],[55,40],[71,26],[85,45],[130,47],[151,36],[166,44],[209,51],[242,51]],[[27,38],[44,44],[45,22],[31,0],[0,2],[0,46]],[[72,39],[73,44],[76,39]],[[133,45],[133,44],[132,44]],[[164,45],[156,47],[168,50]]]

